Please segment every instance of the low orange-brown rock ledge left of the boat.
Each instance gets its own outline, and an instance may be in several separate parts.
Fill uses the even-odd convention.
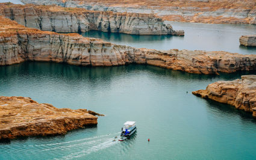
[[[0,140],[66,134],[72,129],[96,125],[97,118],[86,109],[59,109],[29,97],[0,96]]]

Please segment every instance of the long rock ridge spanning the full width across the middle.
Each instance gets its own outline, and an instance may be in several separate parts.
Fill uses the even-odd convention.
[[[74,33],[58,34],[26,28],[0,16],[0,66],[27,60],[81,66],[149,64],[198,74],[256,70],[256,55],[222,51],[137,49]]]

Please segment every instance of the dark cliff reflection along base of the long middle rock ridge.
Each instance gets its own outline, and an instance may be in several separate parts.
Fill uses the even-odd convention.
[[[83,67],[73,66],[68,64],[47,63],[47,62],[24,62],[20,64],[14,64],[11,66],[1,66],[0,75],[11,79],[25,76],[46,76],[51,75],[53,77],[62,77],[63,81],[69,81],[69,79],[76,79],[77,81],[83,81],[83,78],[89,78],[89,82],[95,84],[100,79],[104,81],[111,81],[111,78],[120,76],[125,73],[133,72],[151,72],[157,76],[170,76],[175,79],[216,79],[221,78],[225,80],[238,79],[242,75],[254,75],[256,71],[242,71],[235,73],[220,73],[220,75],[199,75],[187,72],[181,72],[177,70],[163,69],[161,67],[130,64],[127,66],[115,66],[115,67]],[[13,78],[16,77],[16,78]],[[1,79],[2,81],[10,81],[11,79]],[[66,79],[66,80],[64,80]],[[97,80],[97,81],[96,81]]]

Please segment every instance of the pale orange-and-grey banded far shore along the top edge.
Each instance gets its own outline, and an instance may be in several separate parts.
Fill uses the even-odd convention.
[[[79,7],[87,10],[152,13],[164,20],[201,23],[256,24],[255,0],[22,0],[32,4]]]

